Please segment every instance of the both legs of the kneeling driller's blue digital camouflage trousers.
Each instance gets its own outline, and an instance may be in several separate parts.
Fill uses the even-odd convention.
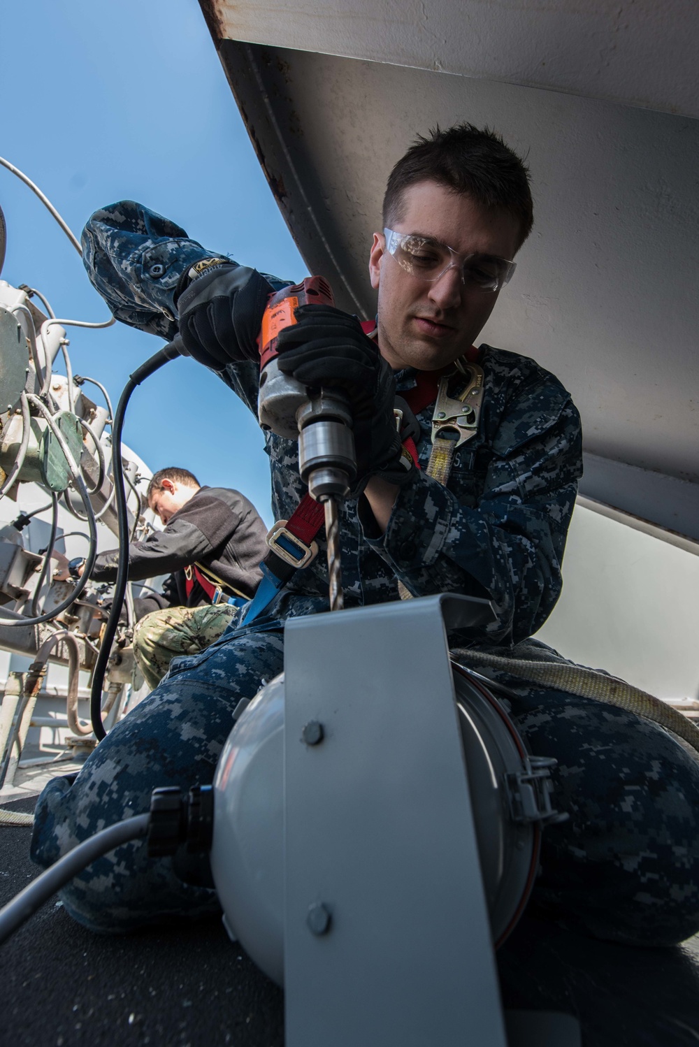
[[[36,814],[31,856],[48,866],[86,837],[146,811],[151,790],[212,781],[241,697],[283,668],[280,631],[230,631],[176,659],[156,690],[110,732],[73,780],[53,779]],[[508,678],[511,715],[535,755],[558,759],[533,905],[571,929],[631,944],[672,944],[699,930],[699,762],[634,714]],[[426,699],[426,706],[428,706]],[[142,843],[99,859],[62,893],[68,912],[115,932],[216,912],[212,891],[183,884]]]

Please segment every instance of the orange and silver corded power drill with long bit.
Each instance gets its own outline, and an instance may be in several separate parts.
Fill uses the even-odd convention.
[[[280,332],[297,322],[294,310],[306,305],[335,305],[322,276],[307,276],[302,284],[285,287],[268,299],[258,339],[257,417],[263,429],[289,440],[298,438],[300,477],[325,512],[330,606],[341,610],[338,503],[350,493],[357,468],[352,415],[341,391],[309,388],[283,374],[276,362]]]

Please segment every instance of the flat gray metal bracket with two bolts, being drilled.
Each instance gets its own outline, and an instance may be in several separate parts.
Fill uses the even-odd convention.
[[[436,596],[287,622],[288,1047],[505,1047],[446,640],[490,614]]]

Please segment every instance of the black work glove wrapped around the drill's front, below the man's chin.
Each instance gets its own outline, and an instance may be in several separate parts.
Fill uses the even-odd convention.
[[[370,476],[404,484],[412,463],[396,428],[396,379],[356,316],[331,306],[299,306],[298,322],[277,342],[277,366],[303,385],[340,388],[348,400],[357,451],[357,497]]]

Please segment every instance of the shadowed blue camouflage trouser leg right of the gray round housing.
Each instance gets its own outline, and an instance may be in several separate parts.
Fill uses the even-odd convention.
[[[508,686],[503,704],[529,751],[558,760],[554,804],[569,819],[544,829],[533,907],[625,944],[672,945],[696,934],[697,755],[634,713],[479,671]]]

